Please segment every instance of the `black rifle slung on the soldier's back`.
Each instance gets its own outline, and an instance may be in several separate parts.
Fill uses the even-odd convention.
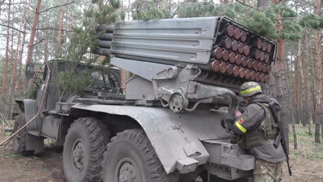
[[[275,118],[275,124],[273,125],[273,127],[276,128],[276,130],[277,130],[277,136],[275,138],[274,147],[278,148],[279,142],[282,144],[284,153],[286,155],[286,162],[287,162],[287,166],[288,166],[288,172],[289,172],[289,175],[292,176],[292,170],[290,169],[289,162],[288,162],[289,157],[288,157],[288,153],[287,153],[287,145],[286,145],[286,142],[285,142],[284,133],[282,132],[282,128],[281,128],[281,125],[280,125],[280,120],[278,119],[278,116],[276,114],[276,110],[275,110],[274,105],[275,105],[274,101],[271,101],[269,103],[269,109],[271,110],[271,112],[272,112],[272,114],[274,115],[274,118]]]

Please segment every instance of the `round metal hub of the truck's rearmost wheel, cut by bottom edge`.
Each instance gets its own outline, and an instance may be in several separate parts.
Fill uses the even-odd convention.
[[[119,161],[119,182],[141,182],[141,173],[138,165],[128,156]]]

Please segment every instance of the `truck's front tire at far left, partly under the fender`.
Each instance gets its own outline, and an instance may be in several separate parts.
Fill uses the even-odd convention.
[[[13,133],[19,130],[19,128],[23,127],[26,124],[26,116],[25,112],[19,113],[18,118],[15,122]],[[26,150],[26,135],[27,135],[27,127],[24,128],[22,131],[18,132],[12,138],[12,150],[15,154],[22,154],[22,155],[32,155],[34,154],[35,150]]]

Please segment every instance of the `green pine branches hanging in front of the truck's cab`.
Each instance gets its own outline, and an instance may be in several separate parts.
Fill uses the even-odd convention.
[[[98,45],[95,40],[100,32],[95,32],[97,25],[111,24],[119,17],[119,0],[109,0],[106,6],[89,6],[84,9],[83,25],[74,28],[72,38],[69,42],[66,54],[60,57],[66,61],[64,70],[57,70],[57,93],[59,101],[63,101],[71,96],[77,95],[95,81],[93,67],[88,66],[98,63],[98,56],[89,57],[91,50],[96,49]],[[80,62],[82,67],[86,68],[79,71]],[[102,63],[109,63],[105,59]],[[102,64],[100,63],[100,64]]]

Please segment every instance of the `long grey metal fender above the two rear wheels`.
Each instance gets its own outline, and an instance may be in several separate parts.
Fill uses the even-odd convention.
[[[226,113],[196,109],[175,114],[168,108],[116,106],[78,103],[71,110],[85,109],[109,114],[127,115],[135,119],[146,132],[166,173],[177,169],[189,173],[205,164],[209,153],[203,140],[228,138],[221,127]]]

